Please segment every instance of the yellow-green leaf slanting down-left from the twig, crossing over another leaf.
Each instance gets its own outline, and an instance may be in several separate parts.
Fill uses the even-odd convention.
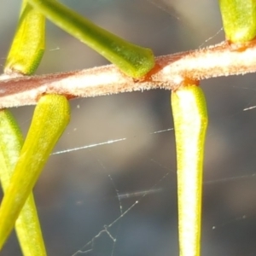
[[[69,102],[65,96],[41,97],[35,108],[14,175],[3,196],[0,208],[0,249],[13,229],[26,198],[32,192],[50,152],[61,137],[69,119]]]

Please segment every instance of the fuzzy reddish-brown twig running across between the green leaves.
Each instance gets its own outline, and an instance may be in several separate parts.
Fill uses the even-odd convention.
[[[0,108],[36,104],[40,96],[49,93],[73,98],[157,88],[176,90],[188,84],[188,80],[253,72],[256,72],[255,41],[236,49],[224,42],[207,49],[157,57],[154,69],[139,80],[125,76],[113,65],[15,79],[0,76]]]

